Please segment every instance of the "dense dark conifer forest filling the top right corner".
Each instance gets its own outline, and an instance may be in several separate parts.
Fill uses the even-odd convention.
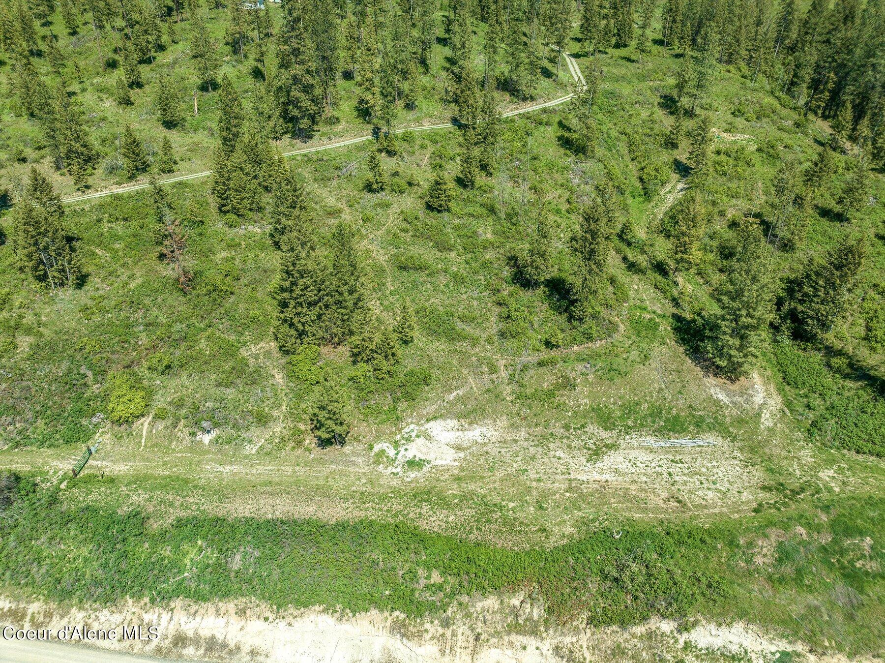
[[[648,52],[654,0],[585,0],[588,50],[635,45]],[[691,115],[711,89],[716,66],[766,81],[787,104],[830,120],[873,162],[885,164],[885,3],[881,0],[666,0],[660,37],[685,58],[680,100]]]

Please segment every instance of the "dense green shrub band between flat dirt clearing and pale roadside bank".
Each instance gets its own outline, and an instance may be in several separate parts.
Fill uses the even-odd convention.
[[[596,531],[549,551],[510,551],[367,520],[192,517],[151,527],[140,513],[36,497],[0,522],[0,559],[4,582],[53,599],[251,596],[421,615],[444,612],[459,595],[534,587],[555,619],[587,611],[594,624],[628,624],[685,616],[721,596],[722,581],[704,570],[716,535],[688,525],[639,527],[619,539]],[[58,558],[58,546],[80,554]],[[252,554],[238,554],[244,548]],[[196,570],[186,581],[184,567]],[[441,579],[428,581],[434,573]]]

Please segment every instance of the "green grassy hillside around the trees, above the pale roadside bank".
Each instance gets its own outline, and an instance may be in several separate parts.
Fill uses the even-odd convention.
[[[219,42],[223,15],[210,10]],[[443,35],[422,102],[396,125],[456,113],[438,94]],[[96,111],[104,154],[126,122],[165,135],[146,89],[113,106],[100,94],[116,74],[89,56],[91,42],[66,35],[60,45],[78,54],[77,96]],[[170,45],[142,68],[153,76],[181,58],[186,69],[185,50]],[[0,466],[24,478],[4,479],[0,585],[100,604],[256,597],[415,617],[438,617],[458,597],[527,590],[551,624],[744,620],[818,651],[881,652],[881,172],[843,213],[863,146],[836,141],[827,120],[754,82],[747,66],[723,64],[686,119],[689,134],[710,122],[699,180],[694,139],[668,144],[689,56],[658,41],[643,54],[591,54],[576,35],[566,50],[588,79],[602,68],[592,155],[573,149],[575,105],[504,119],[494,173],[474,188],[456,183],[445,212],[428,207],[428,189],[441,174],[458,182],[465,128],[398,135],[399,153],[380,156],[388,184],[377,193],[366,188],[374,141],[289,159],[314,258],[335,255],[342,223],[354,230],[363,321],[389,328],[414,312],[413,338],[381,369],[360,360],[358,334],[281,350],[290,257],[273,243],[275,182],[242,216],[218,211],[210,178],[163,185],[187,288],[165,257],[155,191],[65,204],[82,278],[47,289],[12,251],[16,182],[48,159],[16,112],[4,177],[19,198],[0,217]],[[251,74],[234,60],[223,69],[248,110]],[[370,128],[350,116],[350,81],[339,85],[339,121],[319,138]],[[565,73],[544,77],[537,96],[565,89]],[[198,96],[211,107],[214,95]],[[216,113],[204,111],[169,134],[181,172],[209,167]],[[15,144],[27,163],[12,158]],[[821,150],[833,168],[787,246],[774,220],[779,176]],[[53,179],[73,192],[66,174]],[[93,182],[117,181],[109,171]],[[579,320],[574,237],[606,182],[619,222],[600,260],[598,314]],[[704,220],[680,226],[692,197]],[[529,286],[518,266],[539,219],[550,265]],[[766,251],[772,315],[737,378],[712,365],[704,321],[747,227]],[[680,247],[692,233],[689,261]],[[858,237],[864,258],[843,311],[820,337],[803,336],[790,318],[797,283]],[[315,435],[329,393],[350,431],[341,446]],[[704,445],[649,444],[677,439]]]

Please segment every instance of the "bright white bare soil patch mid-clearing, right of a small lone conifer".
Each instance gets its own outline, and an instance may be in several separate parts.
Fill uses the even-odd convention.
[[[457,465],[466,448],[495,438],[495,428],[439,419],[421,426],[412,424],[392,442],[375,444],[372,452],[385,472],[413,477],[432,466]]]

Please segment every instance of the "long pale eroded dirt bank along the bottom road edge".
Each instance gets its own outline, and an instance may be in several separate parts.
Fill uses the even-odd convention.
[[[328,613],[316,608],[276,611],[256,601],[150,605],[128,601],[109,608],[63,607],[0,597],[0,621],[16,628],[158,628],[158,639],[95,643],[112,651],[209,661],[296,663],[577,663],[679,659],[724,663],[740,657],[773,663],[779,652],[800,659],[842,661],[805,644],[766,635],[743,623],[701,622],[680,632],[673,621],[631,628],[550,626],[532,597],[463,599],[443,620],[399,613]],[[686,646],[692,645],[692,646]],[[35,652],[39,643],[35,643]],[[97,657],[96,657],[97,658]],[[855,659],[863,660],[863,659]]]

